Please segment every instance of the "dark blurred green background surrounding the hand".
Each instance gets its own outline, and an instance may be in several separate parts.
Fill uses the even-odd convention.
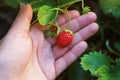
[[[87,40],[89,51],[102,51],[112,58],[120,56],[120,1],[119,0],[85,0],[85,6],[98,16],[99,31]],[[81,2],[70,8],[82,12]],[[9,30],[19,11],[16,0],[0,0],[0,39]],[[56,80],[96,80],[90,72],[84,71],[80,66],[80,59],[76,60]]]

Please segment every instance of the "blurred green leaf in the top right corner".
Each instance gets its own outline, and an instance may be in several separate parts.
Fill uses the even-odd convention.
[[[111,13],[120,18],[120,0],[99,0],[101,8],[106,14]]]

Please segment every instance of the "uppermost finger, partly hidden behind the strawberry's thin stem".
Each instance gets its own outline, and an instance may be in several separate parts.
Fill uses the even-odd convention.
[[[70,20],[80,16],[80,13],[77,10],[71,10],[68,12]],[[56,21],[59,25],[63,25],[64,23],[68,22],[68,16],[66,14],[59,15]]]

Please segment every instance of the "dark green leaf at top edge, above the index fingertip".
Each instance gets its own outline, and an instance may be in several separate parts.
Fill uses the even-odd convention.
[[[57,3],[60,8],[66,8],[79,1],[81,0],[57,0]]]

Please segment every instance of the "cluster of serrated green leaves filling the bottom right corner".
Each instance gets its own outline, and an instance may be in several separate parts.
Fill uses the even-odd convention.
[[[80,64],[84,70],[89,70],[91,75],[97,76],[98,80],[120,79],[120,58],[113,61],[104,53],[90,52],[81,58]]]

